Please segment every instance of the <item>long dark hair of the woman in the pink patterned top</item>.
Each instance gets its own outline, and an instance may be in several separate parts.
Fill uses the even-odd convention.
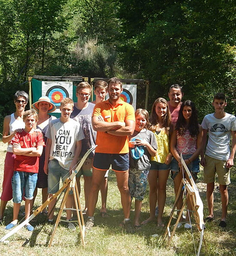
[[[185,117],[183,115],[183,110],[185,106],[191,107],[192,109],[192,115],[188,124],[186,123]],[[179,109],[179,117],[175,126],[175,130],[177,130],[180,135],[183,135],[186,130],[189,130],[191,137],[195,137],[198,135],[199,126],[197,120],[197,109],[194,102],[191,102],[191,100],[186,100],[182,103]]]

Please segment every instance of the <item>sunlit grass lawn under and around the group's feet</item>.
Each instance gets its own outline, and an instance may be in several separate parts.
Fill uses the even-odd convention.
[[[6,154],[6,145],[0,142],[0,192],[3,181],[3,165]],[[206,185],[202,183],[203,176],[200,175],[197,187],[200,190],[200,196],[204,205],[204,216],[207,216],[206,203]],[[215,218],[212,222],[206,224],[204,231],[204,242],[200,255],[236,255],[236,168],[232,168],[231,182],[229,186],[229,207],[227,216],[227,228],[218,227],[221,217],[221,197],[218,190],[218,184],[215,185]],[[82,179],[83,183],[83,179]],[[157,237],[152,234],[160,234],[161,229],[157,228],[156,223],[150,223],[142,227],[135,234],[126,234],[119,227],[119,223],[123,219],[123,212],[120,202],[120,193],[116,186],[115,174],[109,172],[109,188],[107,197],[107,210],[109,217],[103,219],[100,214],[100,197],[95,213],[96,225],[86,234],[83,247],[80,240],[79,227],[76,231],[69,231],[62,223],[59,224],[55,234],[52,246],[47,247],[50,239],[51,225],[45,224],[45,216],[41,214],[37,216],[33,223],[35,230],[32,232],[22,228],[17,234],[9,237],[9,243],[0,244],[0,256],[3,255],[195,255],[195,247],[198,248],[200,233],[197,228],[191,230],[180,228],[175,232],[170,247],[166,241],[157,242]],[[82,205],[84,205],[83,194],[81,196]],[[35,207],[41,204],[41,190],[35,200]],[[167,184],[166,207],[163,215],[163,222],[166,224],[168,215],[174,204],[173,182],[169,178]],[[5,211],[3,224],[0,225],[0,237],[7,233],[5,225],[12,221],[12,201],[8,203]],[[57,206],[57,211],[58,211]],[[24,211],[24,204],[21,212]],[[65,215],[64,215],[65,216]],[[141,221],[149,216],[148,207],[148,189],[143,201]],[[134,206],[132,205],[130,219],[134,217]],[[19,219],[21,219],[20,217]],[[194,220],[192,220],[194,221]],[[196,249],[197,250],[197,249]]]

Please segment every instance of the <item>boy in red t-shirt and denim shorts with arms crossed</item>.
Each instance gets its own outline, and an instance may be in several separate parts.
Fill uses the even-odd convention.
[[[25,111],[23,114],[25,129],[22,133],[15,133],[12,139],[13,153],[16,155],[14,175],[12,178],[13,189],[13,221],[6,226],[6,229],[13,228],[18,222],[18,213],[24,191],[25,198],[25,219],[30,216],[30,208],[33,199],[33,191],[36,187],[39,157],[42,148],[45,146],[42,133],[35,131],[34,127],[38,121],[35,110]],[[33,226],[26,224],[28,231],[33,231]]]

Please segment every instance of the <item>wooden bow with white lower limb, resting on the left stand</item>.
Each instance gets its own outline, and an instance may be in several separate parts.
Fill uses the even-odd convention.
[[[48,206],[48,204],[54,200],[54,198],[56,198],[59,194],[61,194],[61,192],[70,184],[70,182],[73,180],[73,178],[76,176],[76,173],[79,172],[79,170],[81,169],[83,163],[85,162],[86,158],[88,157],[88,155],[97,147],[97,145],[95,145],[94,147],[90,148],[85,155],[82,157],[82,159],[80,160],[78,166],[76,167],[76,170],[74,170],[74,172],[64,181],[63,186],[57,191],[57,193],[55,193],[54,195],[52,195],[51,197],[49,197],[41,206],[39,206],[34,212],[33,214],[30,215],[29,218],[25,219],[21,224],[17,225],[14,229],[12,229],[9,233],[7,233],[5,236],[3,236],[0,239],[0,242],[5,241],[8,237],[10,237],[12,234],[15,234],[18,230],[20,230],[25,224],[27,224],[28,222],[30,222],[34,217],[36,217],[39,213],[42,212],[42,210]]]

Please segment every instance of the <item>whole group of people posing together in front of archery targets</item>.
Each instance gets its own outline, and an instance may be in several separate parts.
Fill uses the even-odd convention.
[[[169,89],[169,101],[155,100],[151,115],[145,109],[134,111],[132,105],[121,100],[122,82],[112,77],[108,83],[97,81],[94,85],[96,100],[89,102],[92,88],[82,82],[76,88],[77,102],[65,98],[61,101],[61,117],[49,116],[55,106],[47,97],[41,97],[32,105],[36,111],[24,111],[28,102],[27,93],[15,93],[16,112],[4,120],[3,142],[8,142],[5,159],[3,192],[1,195],[0,220],[3,219],[7,201],[13,196],[13,221],[6,225],[10,229],[17,225],[22,197],[25,200],[25,216],[30,215],[37,188],[42,188],[42,202],[59,190],[60,179],[64,181],[75,170],[76,164],[85,152],[97,145],[76,174],[80,192],[80,177],[84,177],[86,229],[94,226],[94,211],[98,193],[101,191],[102,207],[106,212],[108,170],[115,171],[124,220],[120,226],[133,232],[154,221],[158,207],[157,226],[163,227],[163,210],[166,202],[166,182],[171,171],[174,191],[177,195],[185,170],[182,168],[182,154],[194,180],[200,172],[200,159],[204,167],[204,182],[209,215],[214,218],[213,191],[215,173],[220,184],[222,216],[219,226],[227,225],[227,185],[230,184],[230,167],[236,151],[236,117],[227,114],[224,93],[217,93],[213,99],[215,112],[198,123],[194,102],[185,100],[182,87],[173,84]],[[109,94],[109,99],[106,94]],[[22,130],[24,129],[24,130]],[[207,134],[209,136],[207,145]],[[230,137],[232,149],[230,152]],[[45,147],[44,147],[45,145]],[[45,148],[45,149],[43,149]],[[206,148],[206,152],[205,152]],[[186,176],[186,179],[189,179]],[[142,200],[149,183],[150,216],[140,223]],[[13,193],[12,193],[13,189]],[[72,193],[72,192],[70,192]],[[135,198],[135,217],[130,221],[130,206]],[[182,208],[182,196],[177,209]],[[56,200],[56,199],[54,199]],[[54,201],[43,213],[48,214],[48,222],[53,222]],[[73,196],[67,198],[68,228],[75,229],[72,219]],[[188,204],[191,210],[191,204]],[[191,228],[191,211],[182,216],[178,227],[185,223]],[[141,225],[140,225],[141,224]],[[33,230],[28,223],[26,228]]]

